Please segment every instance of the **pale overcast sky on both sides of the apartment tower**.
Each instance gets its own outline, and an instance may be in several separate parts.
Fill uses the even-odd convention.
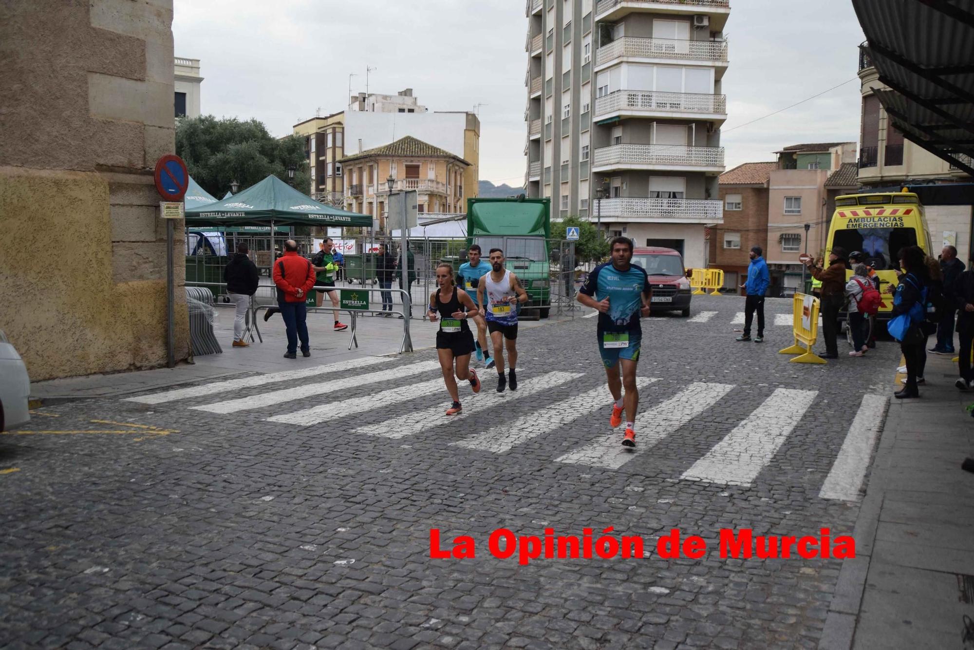
[[[430,110],[479,108],[480,177],[524,180],[523,0],[174,0],[177,57],[200,58],[204,114],[272,134],[343,110],[352,92],[412,88]],[[731,0],[727,167],[789,144],[857,140],[862,30],[848,0]],[[852,81],[850,81],[852,80]],[[734,129],[833,86],[800,106]],[[731,131],[734,129],[733,131]]]

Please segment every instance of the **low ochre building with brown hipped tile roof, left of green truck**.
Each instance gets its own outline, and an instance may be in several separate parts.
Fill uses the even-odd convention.
[[[371,214],[379,232],[388,232],[390,175],[393,192],[416,190],[421,213],[467,210],[464,177],[468,161],[411,135],[346,156],[341,163],[345,209]]]

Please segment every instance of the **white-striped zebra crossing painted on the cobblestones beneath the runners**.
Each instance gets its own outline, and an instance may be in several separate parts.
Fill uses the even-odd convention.
[[[697,318],[712,320],[718,314],[703,312]],[[389,367],[384,368],[384,363]],[[426,377],[421,376],[424,373],[428,373]],[[492,373],[484,374],[493,376]],[[304,383],[308,378],[322,375],[323,381]],[[251,395],[235,396],[232,400],[217,398],[217,401],[184,407],[221,416],[266,409],[269,412],[264,416],[265,421],[302,428],[341,418],[343,424],[336,429],[336,433],[345,435],[349,433],[348,423],[355,422],[356,415],[384,413],[395,404],[418,400],[422,406],[413,406],[408,412],[404,411],[412,405],[393,408],[393,413],[399,414],[387,416],[382,422],[358,426],[351,434],[397,440],[430,432],[432,439],[439,444],[448,443],[462,449],[493,454],[516,451],[531,440],[543,439],[541,453],[545,462],[622,470],[630,463],[634,468],[652,466],[659,458],[659,443],[671,437],[674,440],[662,450],[664,455],[680,454],[681,449],[682,453],[686,453],[688,448],[700,448],[700,437],[712,428],[712,425],[701,427],[701,422],[713,422],[711,414],[715,409],[721,409],[722,401],[737,388],[732,384],[705,381],[682,386],[665,385],[663,381],[658,377],[637,378],[641,404],[636,421],[635,448],[621,446],[620,431],[610,428],[608,414],[611,396],[604,384],[604,377],[601,373],[593,376],[591,372],[581,371],[550,371],[531,376],[530,372],[525,375],[522,368],[519,390],[508,390],[501,394],[492,391],[492,387],[485,387],[480,394],[472,395],[468,382],[460,382],[464,408],[457,416],[445,414],[448,397],[439,363],[429,359],[405,364],[393,363],[388,358],[351,360],[243,379],[212,381],[191,388],[163,390],[129,398],[128,401],[156,404],[220,396],[266,386],[271,390],[263,393],[247,390]],[[566,397],[565,391],[562,391],[563,397],[550,401],[551,389],[576,384],[580,385],[578,390],[567,392],[571,397]],[[360,390],[358,396],[347,393],[357,387],[370,388]],[[706,453],[701,452],[698,458],[688,459],[683,467],[690,465],[690,469],[682,475],[675,474],[671,479],[744,486],[754,484],[788,444],[817,396],[814,390],[771,388],[764,384],[740,388],[746,390],[749,399],[755,399],[755,403],[758,401],[756,398],[764,401],[749,413],[742,413],[742,419],[723,440],[713,444]],[[755,396],[755,391],[760,391],[760,394]],[[319,396],[320,399],[316,400]],[[820,498],[843,501],[860,498],[859,492],[879,436],[887,402],[880,395],[862,398],[842,448],[832,451],[836,458],[818,492]],[[727,421],[724,410],[717,422]],[[477,414],[483,414],[483,417],[470,419]],[[579,427],[583,426],[586,432],[591,431],[588,422],[593,417],[600,423],[600,432],[580,439]],[[585,424],[580,425],[580,421]],[[447,426],[454,423],[455,426]],[[566,433],[571,435],[562,435]],[[681,445],[683,440],[676,438],[680,436],[690,438]],[[831,440],[839,445],[835,437]],[[532,454],[539,453],[537,445],[524,448],[530,448]],[[647,454],[655,448],[656,452]],[[828,450],[822,451],[828,453]],[[685,461],[681,458],[680,462]]]

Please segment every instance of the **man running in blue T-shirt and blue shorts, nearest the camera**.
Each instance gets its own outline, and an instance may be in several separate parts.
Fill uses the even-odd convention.
[[[609,243],[612,261],[599,264],[579,290],[579,302],[598,310],[599,354],[606,368],[613,404],[609,423],[613,428],[622,423],[625,410],[625,434],[622,444],[636,446],[636,409],[639,391],[636,388],[636,363],[642,344],[642,316],[650,315],[653,289],[643,267],[630,264],[632,241],[616,237]],[[622,371],[621,381],[619,370]],[[625,388],[625,398],[622,388]]]

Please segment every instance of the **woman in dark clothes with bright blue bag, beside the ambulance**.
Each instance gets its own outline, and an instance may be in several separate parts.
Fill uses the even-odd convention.
[[[926,294],[930,275],[926,266],[926,254],[918,246],[908,246],[900,250],[900,267],[904,273],[899,275],[899,285],[893,296],[893,309],[890,312],[890,333],[900,342],[900,350],[907,364],[906,384],[902,390],[893,394],[897,400],[918,398],[918,384],[923,383],[923,365],[926,363],[926,337],[922,323],[926,312]],[[896,329],[897,317],[904,317],[907,325]],[[898,332],[897,333],[894,333]]]

